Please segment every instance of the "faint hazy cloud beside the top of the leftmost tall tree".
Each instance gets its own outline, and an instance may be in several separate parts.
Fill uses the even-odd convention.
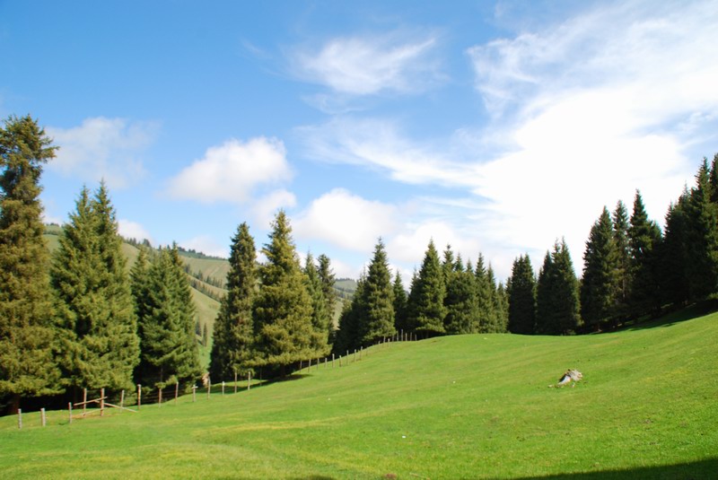
[[[85,181],[105,179],[109,188],[127,188],[144,177],[144,150],[158,125],[124,118],[86,118],[80,127],[48,127],[59,146],[48,169]]]

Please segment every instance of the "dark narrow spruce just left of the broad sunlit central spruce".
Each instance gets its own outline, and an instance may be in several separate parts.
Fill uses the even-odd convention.
[[[248,370],[252,359],[254,323],[252,301],[257,290],[257,250],[247,223],[232,237],[227,294],[215,319],[209,373],[214,379],[232,378]]]

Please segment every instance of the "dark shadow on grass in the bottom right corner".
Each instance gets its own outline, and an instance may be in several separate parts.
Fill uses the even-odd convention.
[[[580,474],[525,477],[525,480],[538,478],[541,480],[610,480],[624,478],[644,478],[651,480],[708,480],[718,478],[718,458],[709,458],[707,460],[682,463],[679,465],[665,465],[661,467],[643,467]]]

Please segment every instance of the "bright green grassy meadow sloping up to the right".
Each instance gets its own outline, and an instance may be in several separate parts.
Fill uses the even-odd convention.
[[[684,313],[684,315],[687,315]],[[680,321],[679,321],[680,320]],[[0,418],[13,478],[714,478],[718,314],[595,336],[447,336],[67,424]],[[584,380],[548,388],[567,368]],[[230,390],[228,390],[229,392]]]

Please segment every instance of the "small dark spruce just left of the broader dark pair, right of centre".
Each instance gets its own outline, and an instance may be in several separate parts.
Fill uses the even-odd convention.
[[[529,254],[513,260],[508,296],[509,331],[533,334],[536,331],[536,279]]]

